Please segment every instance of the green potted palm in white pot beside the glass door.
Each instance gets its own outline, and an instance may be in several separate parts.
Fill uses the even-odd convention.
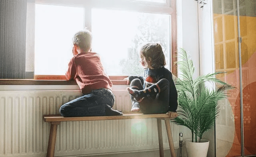
[[[218,100],[226,98],[227,91],[234,87],[214,77],[223,72],[200,75],[193,79],[194,65],[190,55],[181,48],[178,50],[177,57],[176,64],[181,78],[175,76],[173,78],[178,92],[178,106],[181,110],[178,111],[179,116],[173,122],[191,130],[192,138],[190,141],[196,145],[192,148],[193,151],[202,147],[198,144],[207,141],[206,153],[204,153],[206,156],[209,141],[202,140],[202,135],[214,125],[220,111]],[[215,88],[209,85],[206,86],[206,82],[213,83]],[[187,139],[185,142],[188,156],[195,156],[192,152],[188,152],[190,151],[190,148],[187,148],[190,147],[189,140]],[[202,150],[200,152],[202,153]],[[196,156],[203,157],[204,155]]]

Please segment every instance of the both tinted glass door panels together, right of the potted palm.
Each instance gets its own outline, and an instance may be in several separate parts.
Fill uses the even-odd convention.
[[[236,87],[220,102],[216,156],[255,155],[256,0],[213,0],[213,10],[215,71]]]

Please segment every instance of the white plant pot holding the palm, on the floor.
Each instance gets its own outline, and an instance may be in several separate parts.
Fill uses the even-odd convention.
[[[194,140],[195,141],[195,140]],[[187,157],[206,157],[209,147],[209,140],[201,139],[201,142],[192,142],[192,139],[185,139]]]

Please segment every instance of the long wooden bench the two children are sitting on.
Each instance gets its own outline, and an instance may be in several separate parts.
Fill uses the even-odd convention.
[[[60,124],[60,122],[91,121],[91,120],[127,120],[127,119],[143,119],[143,118],[156,118],[157,119],[160,157],[164,157],[164,146],[163,146],[161,120],[165,121],[166,132],[167,132],[168,142],[169,142],[169,146],[170,146],[170,152],[171,152],[172,157],[175,157],[176,155],[175,155],[175,151],[174,151],[172,132],[171,132],[171,128],[170,128],[170,118],[169,118],[168,114],[140,114],[140,113],[124,114],[123,116],[93,116],[93,117],[63,117],[60,115],[44,115],[44,122],[51,123],[46,157],[54,157],[57,126],[58,126],[58,124]]]

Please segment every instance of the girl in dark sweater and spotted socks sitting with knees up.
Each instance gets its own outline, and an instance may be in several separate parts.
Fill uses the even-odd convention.
[[[168,113],[170,118],[178,116],[176,109],[177,90],[172,73],[166,65],[162,46],[159,43],[147,43],[139,51],[144,76],[130,76],[127,87],[132,99],[132,112],[143,114]]]

